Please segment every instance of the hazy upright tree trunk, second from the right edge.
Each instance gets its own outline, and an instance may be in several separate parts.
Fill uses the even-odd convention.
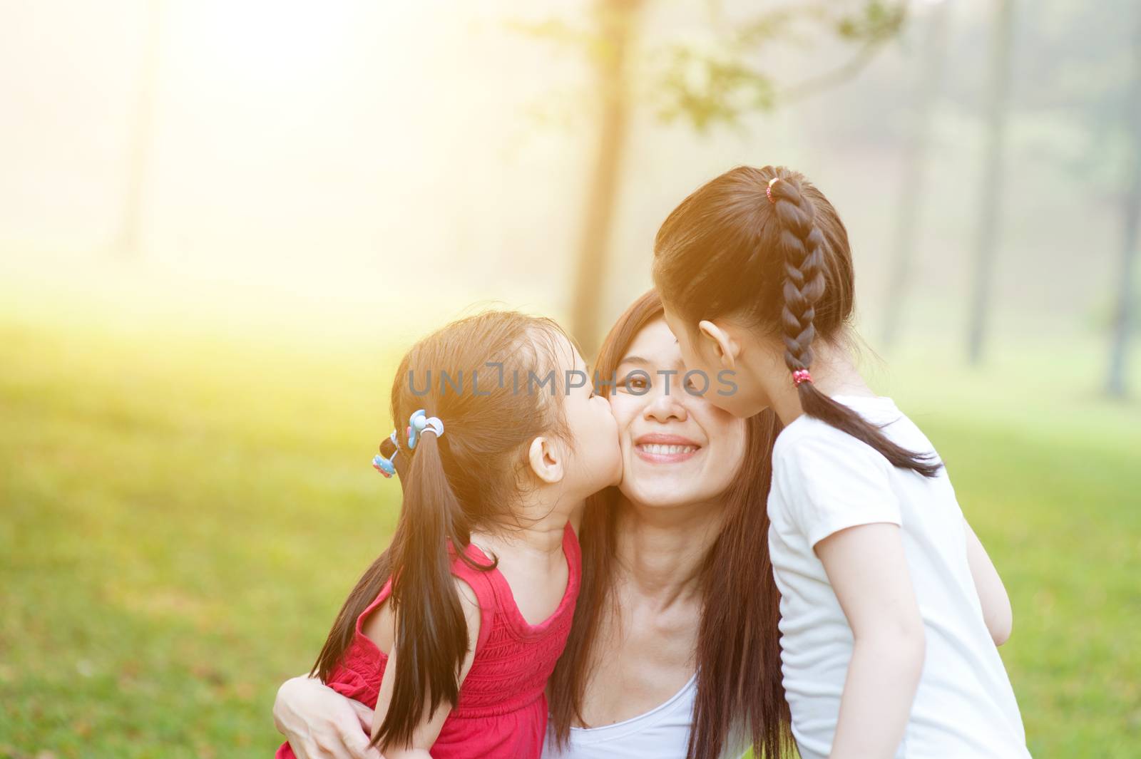
[[[990,317],[990,289],[1002,219],[1003,145],[1006,133],[1006,100],[1010,91],[1011,38],[1014,0],[995,0],[994,33],[990,38],[990,81],[987,97],[986,154],[979,191],[981,218],[976,243],[974,285],[971,296],[968,357],[972,365],[982,360]]]

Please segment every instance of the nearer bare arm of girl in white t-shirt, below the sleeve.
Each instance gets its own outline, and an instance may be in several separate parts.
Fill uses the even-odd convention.
[[[912,711],[925,638],[899,527],[848,528],[816,545],[852,629],[831,759],[890,759]]]

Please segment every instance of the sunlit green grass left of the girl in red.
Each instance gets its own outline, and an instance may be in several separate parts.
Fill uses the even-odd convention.
[[[0,757],[273,752],[393,527],[387,364],[0,323]]]

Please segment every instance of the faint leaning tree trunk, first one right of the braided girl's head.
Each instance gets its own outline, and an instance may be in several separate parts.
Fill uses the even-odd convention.
[[[916,80],[915,111],[912,114],[911,134],[904,146],[904,177],[900,182],[899,218],[896,226],[895,256],[884,300],[883,344],[891,348],[899,336],[904,297],[912,278],[915,259],[915,232],[922,209],[924,169],[931,141],[931,115],[942,82],[947,49],[947,17],[949,2],[940,2],[930,10],[922,39],[922,73]]]

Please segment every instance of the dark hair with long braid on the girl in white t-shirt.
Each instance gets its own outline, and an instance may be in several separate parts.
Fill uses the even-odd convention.
[[[790,372],[810,368],[816,337],[837,337],[855,310],[848,231],[824,194],[784,166],[737,166],[682,201],[657,231],[654,284],[690,324],[733,315],[780,335]],[[811,382],[798,394],[804,414],[895,466],[938,474],[933,457],[891,442]]]

